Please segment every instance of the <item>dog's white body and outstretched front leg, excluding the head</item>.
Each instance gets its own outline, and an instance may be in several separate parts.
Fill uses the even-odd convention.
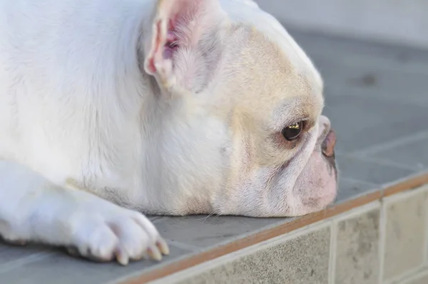
[[[0,162],[0,234],[8,240],[76,245],[97,258],[121,248],[124,263],[158,241],[143,215],[67,183],[144,199],[135,189],[146,174],[147,88],[135,48],[150,4],[121,2],[0,1],[0,158],[10,161]]]

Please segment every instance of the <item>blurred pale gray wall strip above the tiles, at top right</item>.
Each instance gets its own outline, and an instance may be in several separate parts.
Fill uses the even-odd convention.
[[[428,0],[255,0],[285,26],[428,49]]]

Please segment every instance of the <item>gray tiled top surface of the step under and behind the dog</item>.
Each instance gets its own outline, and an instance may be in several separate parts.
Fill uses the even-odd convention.
[[[325,78],[325,113],[339,139],[337,202],[427,171],[428,51],[290,32]],[[125,268],[76,260],[61,250],[0,245],[0,283],[115,283],[290,220],[154,217],[171,255]]]

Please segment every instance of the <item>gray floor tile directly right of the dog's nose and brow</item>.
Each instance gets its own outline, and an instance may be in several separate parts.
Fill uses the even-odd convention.
[[[427,128],[428,108],[357,95],[326,95],[324,113],[337,133],[337,152],[352,151],[411,136]]]

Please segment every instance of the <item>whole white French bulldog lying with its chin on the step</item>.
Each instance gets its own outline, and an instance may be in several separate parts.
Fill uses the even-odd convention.
[[[0,0],[0,235],[168,254],[143,214],[335,200],[320,73],[250,0]]]

